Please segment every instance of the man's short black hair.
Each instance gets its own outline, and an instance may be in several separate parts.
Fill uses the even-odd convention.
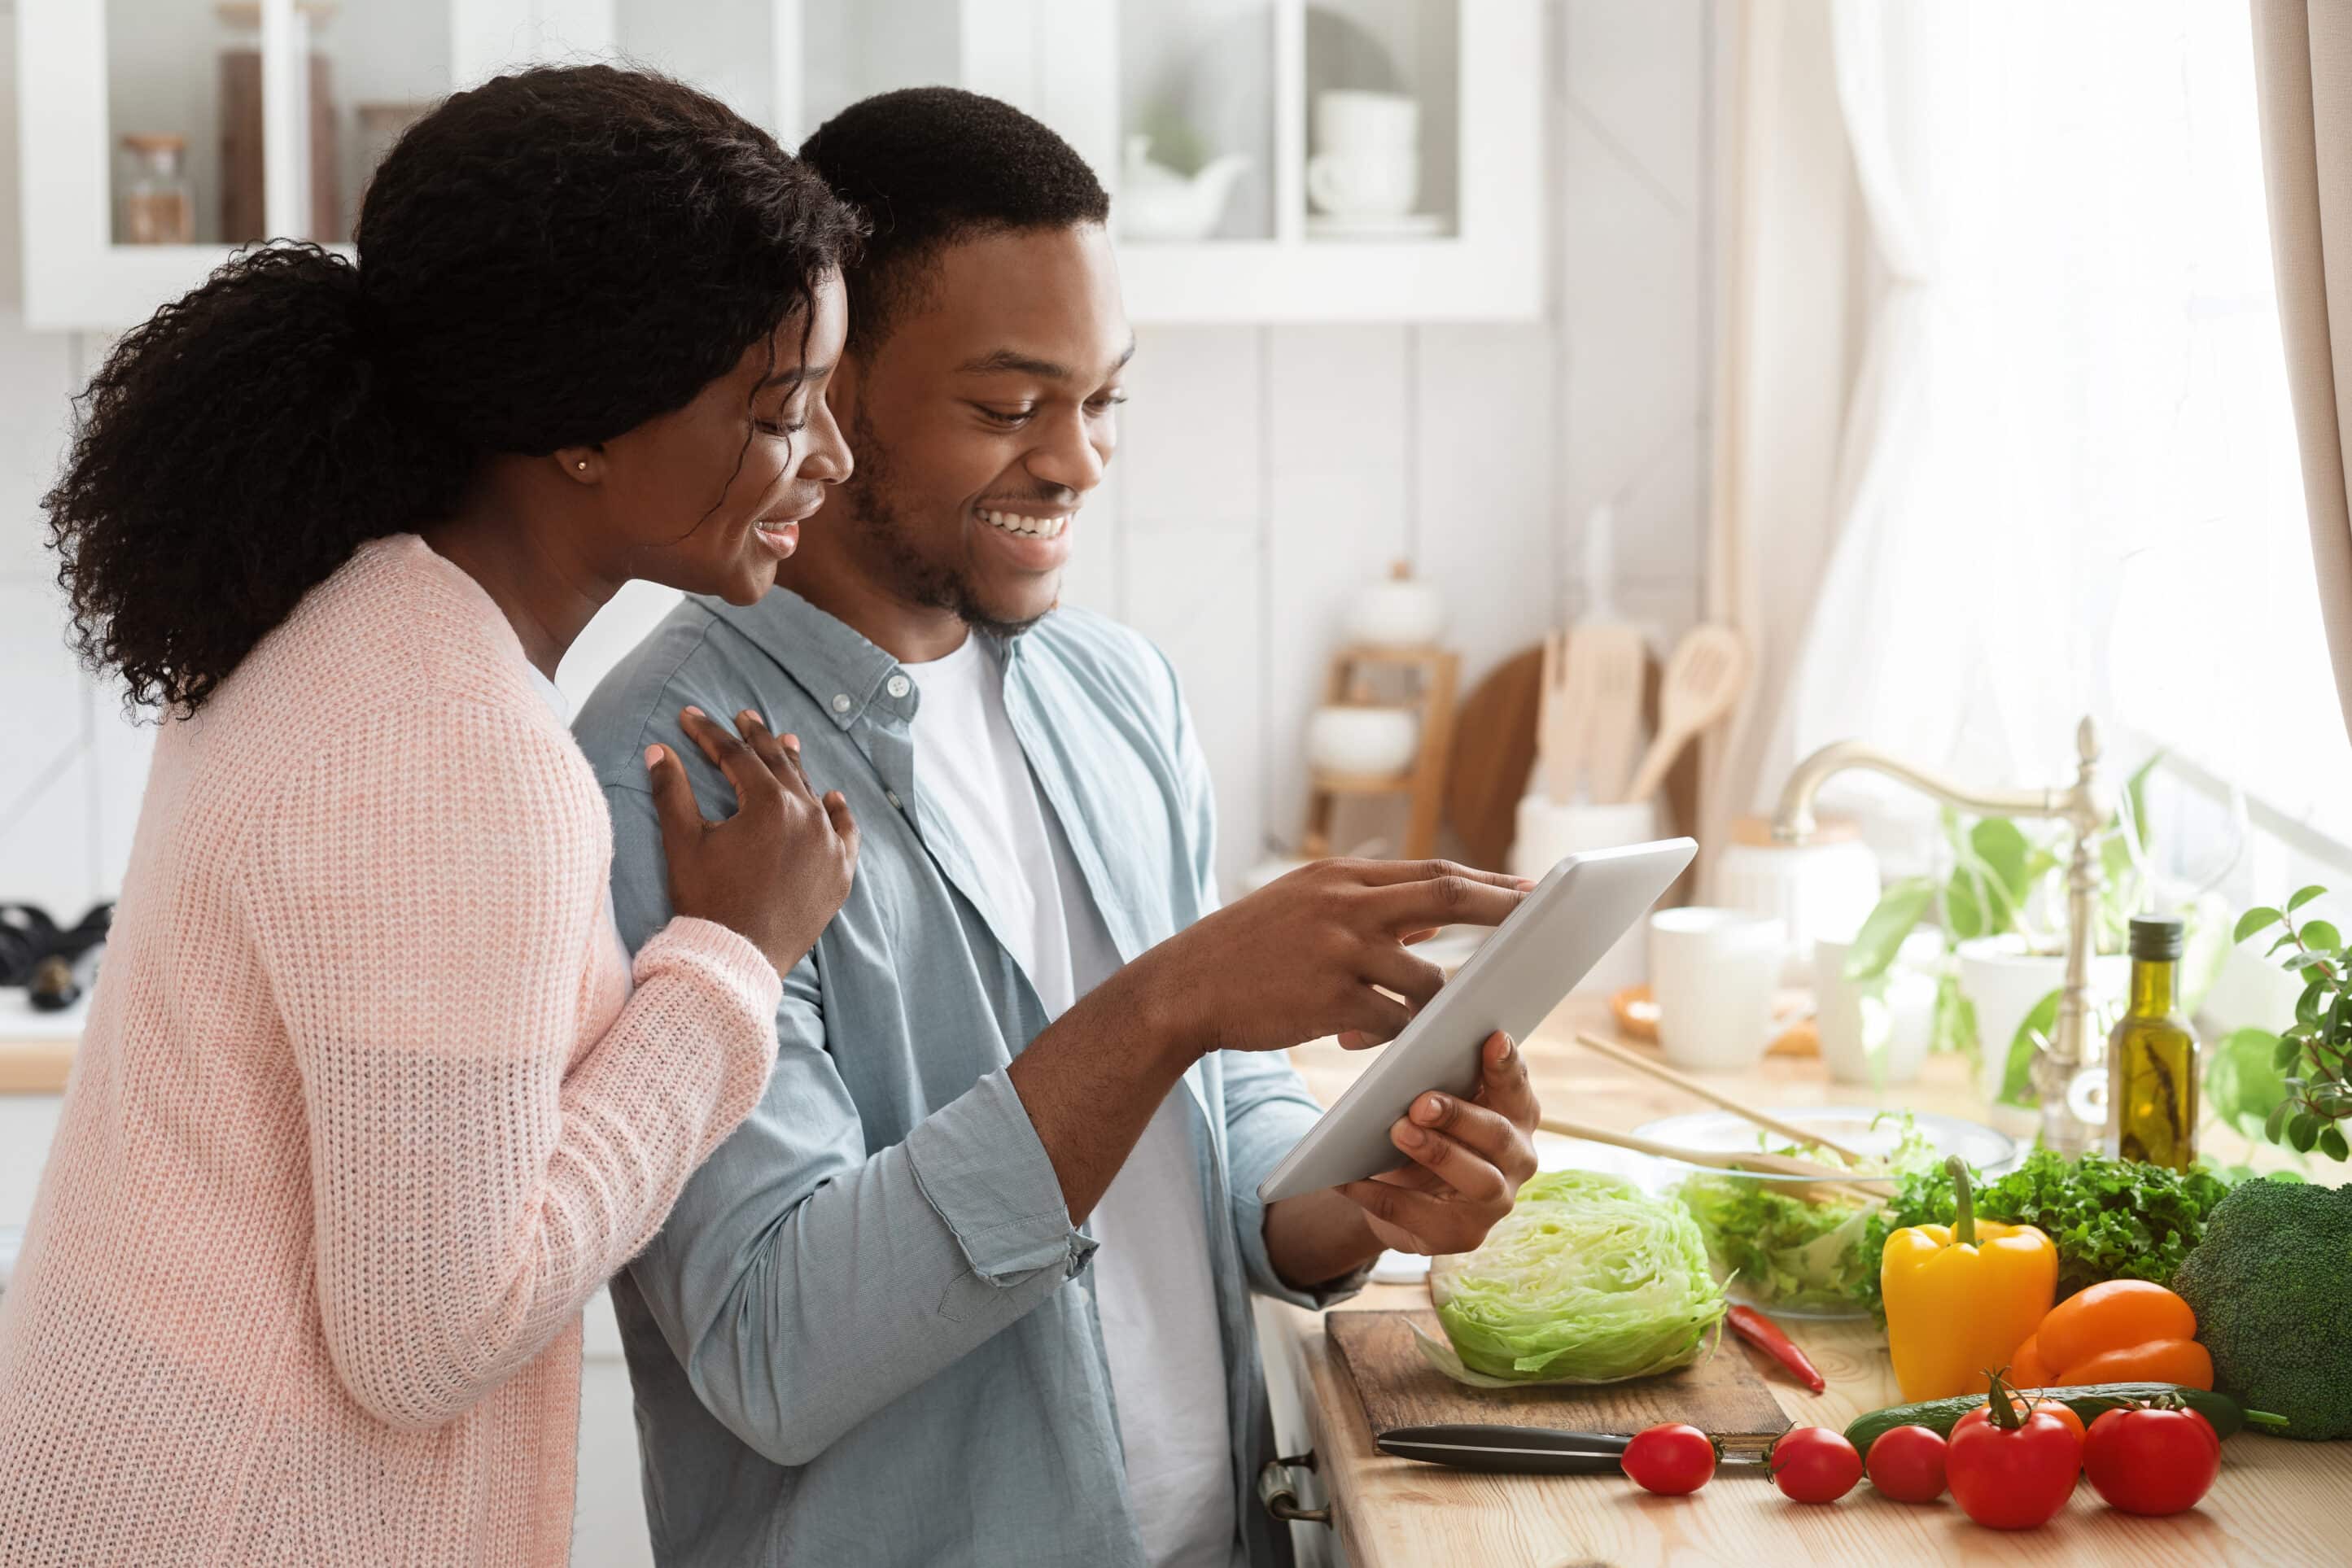
[[[873,221],[847,268],[854,348],[887,336],[948,244],[1110,216],[1110,195],[1077,148],[1011,103],[962,87],[861,99],[816,127],[800,155]]]

